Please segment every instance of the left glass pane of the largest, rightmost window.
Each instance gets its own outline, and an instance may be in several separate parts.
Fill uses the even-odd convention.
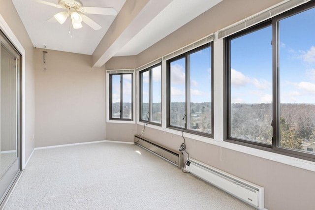
[[[272,26],[229,39],[229,137],[272,145]]]

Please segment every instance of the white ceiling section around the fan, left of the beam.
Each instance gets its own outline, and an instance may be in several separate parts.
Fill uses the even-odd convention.
[[[100,40],[112,24],[115,16],[87,15],[102,28],[93,30],[85,23],[83,28],[72,29],[69,34],[69,22],[63,25],[57,21],[48,23],[56,13],[65,11],[54,6],[38,3],[32,0],[12,0],[20,18],[28,31],[34,47],[59,50],[72,53],[92,55]],[[45,0],[58,4],[58,0]],[[82,0],[83,6],[114,7],[120,11],[126,0]]]

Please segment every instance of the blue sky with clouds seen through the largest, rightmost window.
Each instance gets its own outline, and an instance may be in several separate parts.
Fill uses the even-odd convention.
[[[233,103],[272,102],[272,28],[231,41]],[[315,9],[280,21],[282,103],[315,103]]]

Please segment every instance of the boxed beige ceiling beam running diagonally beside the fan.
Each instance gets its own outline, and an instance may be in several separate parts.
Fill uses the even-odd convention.
[[[111,59],[172,0],[127,0],[92,55],[93,67]]]

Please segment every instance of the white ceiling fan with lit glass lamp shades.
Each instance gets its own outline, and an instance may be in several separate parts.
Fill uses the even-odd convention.
[[[63,24],[68,16],[70,16],[73,29],[81,29],[83,27],[82,21],[94,30],[102,28],[84,14],[117,15],[117,11],[112,7],[84,7],[80,0],[59,0],[58,4],[44,0],[33,1],[65,9],[66,11],[55,14],[52,18],[47,20],[47,22],[52,22],[56,19],[60,24]]]

